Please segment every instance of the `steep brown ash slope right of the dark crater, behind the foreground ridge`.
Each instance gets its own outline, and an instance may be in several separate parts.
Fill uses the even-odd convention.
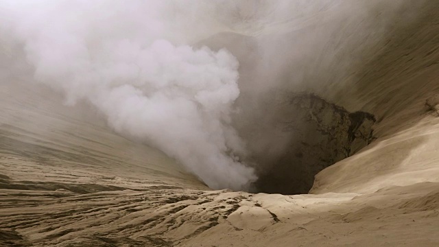
[[[428,2],[420,10],[418,22],[393,32],[378,56],[357,71],[359,80],[342,91],[353,97],[337,100],[374,113],[379,139],[319,174],[313,193],[372,192],[388,185],[437,181],[436,114],[425,103],[439,93],[439,5]],[[358,173],[368,175],[359,178]]]

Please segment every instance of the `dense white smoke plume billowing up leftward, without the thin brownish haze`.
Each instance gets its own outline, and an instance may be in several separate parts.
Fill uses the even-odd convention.
[[[3,1],[37,82],[93,104],[115,131],[176,158],[212,188],[246,189],[253,169],[230,127],[239,96],[228,51],[193,49],[168,1]],[[171,16],[172,17],[172,16]],[[188,32],[195,32],[189,30]]]

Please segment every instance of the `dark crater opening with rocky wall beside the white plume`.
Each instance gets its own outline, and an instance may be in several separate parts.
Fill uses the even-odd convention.
[[[274,98],[261,109],[272,114],[244,133],[257,164],[257,192],[308,193],[318,172],[374,139],[376,120],[370,113],[349,113],[310,93],[276,93]]]

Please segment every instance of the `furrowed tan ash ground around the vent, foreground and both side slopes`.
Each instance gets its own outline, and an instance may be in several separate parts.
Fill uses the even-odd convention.
[[[308,195],[211,191],[90,109],[2,78],[17,82],[0,84],[0,246],[438,246],[439,118],[424,103],[439,93],[439,32],[426,13],[332,98],[377,115],[378,139]]]

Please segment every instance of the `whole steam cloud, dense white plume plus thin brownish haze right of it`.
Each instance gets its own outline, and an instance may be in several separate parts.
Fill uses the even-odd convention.
[[[210,187],[249,189],[253,168],[292,145],[272,89],[360,110],[340,95],[356,93],[358,71],[421,2],[5,0],[0,38],[23,44],[34,79],[66,104],[88,102]]]

